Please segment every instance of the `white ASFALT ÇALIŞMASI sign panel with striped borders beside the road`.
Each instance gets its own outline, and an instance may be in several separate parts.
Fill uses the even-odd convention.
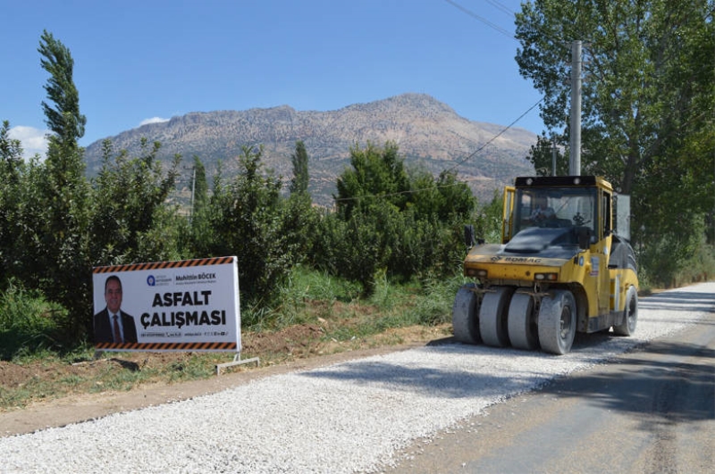
[[[98,350],[240,352],[235,256],[96,267],[92,278]]]

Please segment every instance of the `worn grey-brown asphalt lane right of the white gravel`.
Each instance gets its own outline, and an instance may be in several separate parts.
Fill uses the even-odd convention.
[[[712,312],[713,295],[673,317]],[[664,299],[668,298],[668,299]],[[715,471],[715,314],[419,440],[384,472],[706,473]]]

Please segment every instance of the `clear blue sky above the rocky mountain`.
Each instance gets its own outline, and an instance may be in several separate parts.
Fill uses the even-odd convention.
[[[332,111],[407,92],[506,126],[540,99],[514,61],[519,4],[2,0],[0,121],[26,152],[42,149],[48,75],[37,50],[47,29],[74,59],[82,146],[188,112]],[[538,109],[515,126],[540,133]]]

